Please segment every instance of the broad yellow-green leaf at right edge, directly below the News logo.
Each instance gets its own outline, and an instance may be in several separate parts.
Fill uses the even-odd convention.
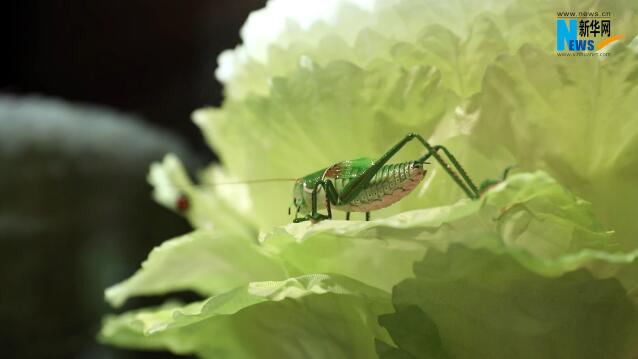
[[[574,61],[525,46],[500,58],[467,113],[470,139],[494,138],[524,169],[544,169],[594,203],[606,228],[636,248],[638,55],[622,46],[603,60]]]

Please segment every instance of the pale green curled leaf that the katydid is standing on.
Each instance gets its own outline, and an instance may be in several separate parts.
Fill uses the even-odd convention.
[[[543,172],[514,174],[479,201],[461,200],[370,222],[289,224],[264,233],[260,242],[289,273],[330,271],[388,291],[411,275],[411,264],[428,248],[445,249],[452,243],[561,261],[551,267],[530,263],[547,275],[587,267],[608,277],[620,267],[601,265],[600,258],[617,256],[620,263],[632,263],[635,257],[619,252],[619,243],[598,223],[591,204]],[[552,272],[557,268],[561,271]],[[628,287],[638,279],[635,274],[627,277]]]

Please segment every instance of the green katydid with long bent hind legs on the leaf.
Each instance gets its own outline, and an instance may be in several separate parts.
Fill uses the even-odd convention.
[[[416,161],[387,164],[397,152],[410,141],[417,139],[427,152]],[[445,155],[447,161],[441,156]],[[332,209],[346,212],[365,212],[370,220],[370,212],[388,207],[414,190],[425,177],[424,164],[433,157],[450,175],[452,180],[472,200],[478,199],[488,187],[507,177],[510,166],[505,169],[501,180],[488,179],[477,187],[465,169],[450,151],[441,145],[430,145],[421,135],[408,133],[379,159],[362,157],[342,161],[297,179],[261,179],[220,184],[245,184],[271,181],[295,181],[292,206],[296,209],[293,222],[318,222],[332,219]],[[183,200],[183,198],[181,198]],[[180,207],[180,206],[178,206]],[[188,206],[181,206],[188,208]],[[319,213],[326,209],[327,214]],[[290,214],[290,208],[288,209]],[[304,216],[299,217],[299,214]]]

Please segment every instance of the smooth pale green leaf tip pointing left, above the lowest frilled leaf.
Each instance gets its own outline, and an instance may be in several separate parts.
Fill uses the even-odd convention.
[[[287,276],[278,260],[245,238],[199,230],[164,242],[151,251],[132,277],[106,291],[114,306],[139,295],[192,290],[209,296],[260,280]]]

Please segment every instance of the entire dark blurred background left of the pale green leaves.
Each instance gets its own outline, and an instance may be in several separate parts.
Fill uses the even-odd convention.
[[[12,101],[33,94],[106,106],[114,117],[122,114],[123,121],[147,126],[141,131],[156,140],[144,148],[130,146],[125,156],[91,141],[78,141],[69,150],[29,136],[16,150],[13,142],[8,146],[6,137],[15,136],[7,128],[20,116],[0,115],[5,132],[5,138],[0,133],[0,357],[172,357],[96,343],[102,315],[114,311],[102,291],[132,274],[153,246],[190,230],[182,218],[152,202],[148,163],[167,151],[179,153],[190,168],[215,160],[190,114],[221,103],[221,86],[213,77],[216,57],[239,43],[247,15],[264,4],[27,0],[2,6],[0,96],[11,99],[10,108]],[[90,136],[82,132],[92,131],[89,117],[87,126],[61,130],[64,137],[57,142]],[[113,123],[129,131],[126,124]],[[121,141],[130,141],[125,137]],[[112,142],[123,149],[129,145]],[[136,299],[121,310],[162,299]]]

